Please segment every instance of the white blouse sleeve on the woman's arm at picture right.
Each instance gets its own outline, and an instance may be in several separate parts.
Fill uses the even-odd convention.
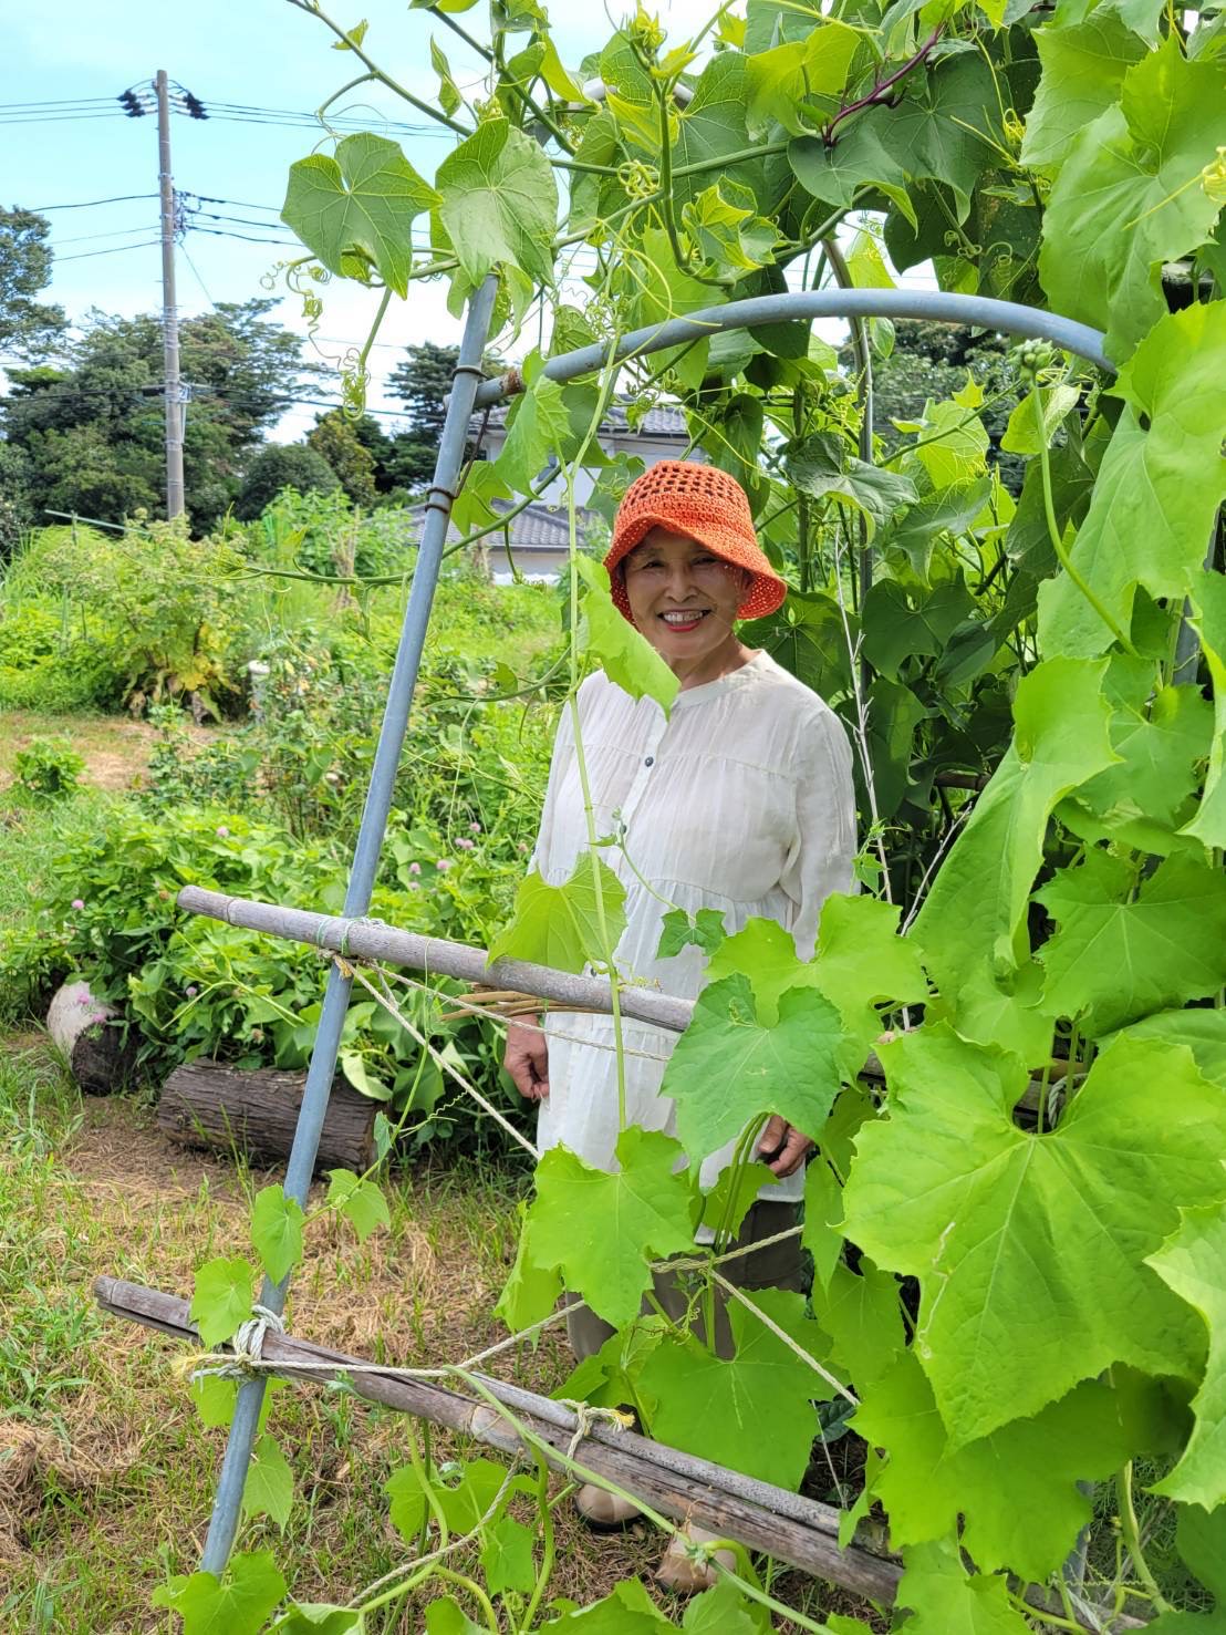
[[[822,903],[832,891],[853,889],[857,852],[852,746],[832,710],[822,710],[801,729],[798,764],[796,840],[781,885],[796,904],[796,952],[811,960]]]

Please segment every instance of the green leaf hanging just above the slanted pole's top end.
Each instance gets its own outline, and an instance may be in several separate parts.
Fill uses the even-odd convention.
[[[435,181],[443,226],[472,283],[503,265],[551,283],[557,185],[538,142],[507,119],[489,119],[448,154]]]

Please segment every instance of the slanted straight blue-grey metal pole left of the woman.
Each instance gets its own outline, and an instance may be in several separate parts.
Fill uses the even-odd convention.
[[[443,562],[446,525],[451,515],[456,479],[464,459],[468,423],[472,415],[477,379],[481,378],[481,358],[489,338],[497,288],[499,281],[490,275],[469,301],[464,337],[459,343],[459,360],[456,363],[456,383],[448,401],[443,437],[438,443],[438,458],[435,459],[435,481],[427,499],[414,589],[404,615],[404,628],[400,629],[400,641],[396,649],[391,682],[387,683],[387,705],[383,714],[383,726],[379,728],[371,785],[366,793],[358,844],[353,852],[353,870],[345,893],[343,912],[347,917],[363,916],[371,904],[374,875],[379,867],[379,850],[396,790],[396,768],[400,760],[405,728],[409,726],[409,706],[414,700],[417,670],[422,662],[425,631],[430,621],[430,607]],[[337,1071],[340,1030],[345,1024],[351,986],[353,979],[342,976],[340,970],[332,965],[284,1179],[286,1195],[298,1198],[299,1203],[306,1203],[311,1174],[315,1167],[319,1135],[324,1128],[324,1113],[327,1112],[332,1079]],[[281,1283],[265,1280],[260,1305],[270,1311],[283,1311],[288,1285],[288,1277]],[[260,1408],[263,1406],[265,1383],[263,1378],[255,1378],[244,1382],[239,1388],[234,1422],[229,1442],[226,1444],[221,1476],[217,1478],[217,1493],[213,1501],[209,1535],[204,1540],[204,1553],[201,1557],[201,1566],[206,1573],[221,1573],[234,1547],[234,1537],[242,1516],[247,1470],[252,1462],[252,1449],[255,1447]]]

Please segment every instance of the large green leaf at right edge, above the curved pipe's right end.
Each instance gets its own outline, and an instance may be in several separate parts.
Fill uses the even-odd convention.
[[[1113,358],[1166,311],[1162,263],[1208,239],[1221,191],[1201,186],[1201,172],[1223,144],[1221,64],[1188,62],[1172,36],[1069,147],[1043,217],[1040,276],[1058,312],[1107,330]]]

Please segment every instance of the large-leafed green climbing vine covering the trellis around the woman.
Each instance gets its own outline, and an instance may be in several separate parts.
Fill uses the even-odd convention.
[[[1125,1609],[1159,1635],[1210,1635],[1226,1615],[1221,13],[747,0],[688,39],[639,10],[567,65],[538,0],[492,0],[487,23],[476,0],[414,0],[438,25],[438,93],[422,100],[381,65],[394,51],[376,54],[365,21],[291,3],[358,64],[345,92],[378,80],[456,137],[432,180],[376,134],[296,164],[284,221],[307,255],[291,276],[312,301],[329,278],[368,286],[373,340],[414,283],[446,280],[459,316],[494,275],[495,338],[528,348],[505,446],[468,471],[461,533],[503,526],[495,502],[526,504],[561,468],[574,535],[582,464],[610,515],[638,469],[598,453],[611,392],[631,417],[678,401],[794,585],[745,641],[822,693],[858,754],[863,889],[826,904],[811,961],[767,922],[729,937],[718,916],[669,916],[662,955],[695,942],[709,956],[664,1082],[677,1138],[623,1128],[616,1174],[548,1153],[500,1315],[531,1329],[562,1288],[582,1293],[620,1336],[562,1395],[634,1403],[659,1440],[783,1486],[801,1483],[839,1404],[868,1445],[845,1537],[870,1507],[884,1514],[904,1563],[894,1615],[914,1635],[1102,1630]],[[579,249],[588,294],[564,301]],[[870,419],[884,320],[858,324],[848,355],[785,319],[613,363],[623,335],[677,316],[881,288],[922,263],[942,289],[1102,330],[1110,370],[1025,342],[1004,386],[968,373],[886,446]],[[553,379],[548,360],[584,345],[605,361]],[[999,446],[1025,459],[1017,492],[986,391],[1012,404]],[[572,697],[600,665],[667,710],[673,679],[579,549],[570,597]],[[595,968],[616,994],[634,974],[613,960],[618,847],[592,824],[569,885],[530,876],[495,952]],[[863,1079],[870,1053],[884,1082]],[[817,1138],[812,1295],[737,1301],[723,1360],[639,1305],[652,1264],[678,1252],[695,1300],[709,1298],[772,1112]],[[703,1194],[685,1154],[744,1133]],[[345,1172],[325,1208],[358,1231],[381,1220],[378,1189]],[[613,1212],[616,1233],[602,1231]],[[700,1225],[713,1241],[696,1243]],[[309,1228],[280,1189],[257,1198],[253,1249],[273,1282]],[[206,1346],[250,1321],[255,1277],[245,1259],[201,1267]],[[456,1375],[471,1385],[471,1364]],[[234,1383],[206,1367],[196,1395],[224,1422]],[[428,1444],[410,1447],[389,1485],[410,1552],[394,1581],[301,1606],[268,1553],[239,1553],[221,1578],[173,1579],[159,1604],[188,1635],[340,1635],[433,1581],[430,1635],[672,1627],[634,1581],[593,1609],[548,1602],[539,1449],[526,1467],[448,1473]],[[569,1468],[585,1480],[582,1454]],[[1079,1548],[1089,1483],[1116,1540],[1097,1576]],[[1216,1612],[1169,1604],[1141,1489],[1174,1517]],[[517,1496],[535,1527],[512,1514]],[[263,1432],[247,1511],[284,1519],[289,1504]],[[477,1547],[482,1583],[454,1566],[459,1542]],[[1041,1615],[1028,1586],[1045,1591]],[[742,1552],[685,1628],[765,1630],[772,1610],[786,1609]]]

